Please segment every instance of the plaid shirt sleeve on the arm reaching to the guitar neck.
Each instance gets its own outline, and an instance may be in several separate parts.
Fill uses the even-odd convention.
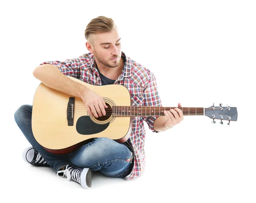
[[[148,81],[148,85],[145,87],[143,91],[144,94],[144,106],[155,106],[155,107],[162,107],[161,99],[157,91],[157,83],[155,76],[152,74],[151,79]],[[159,116],[143,116],[142,119],[148,124],[150,130],[153,133],[159,133],[158,131],[154,130],[154,121]]]

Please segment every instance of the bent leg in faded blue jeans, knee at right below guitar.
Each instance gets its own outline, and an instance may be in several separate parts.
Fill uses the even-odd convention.
[[[110,138],[95,138],[67,155],[75,166],[116,178],[128,175],[133,157],[132,149]]]

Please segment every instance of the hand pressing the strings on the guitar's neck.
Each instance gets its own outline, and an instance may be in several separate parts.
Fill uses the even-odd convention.
[[[178,104],[178,107],[181,107],[180,103]],[[167,121],[165,122],[165,127],[168,129],[180,123],[180,121],[183,121],[183,112],[178,108],[171,109],[169,111],[164,110],[163,112],[167,118]]]

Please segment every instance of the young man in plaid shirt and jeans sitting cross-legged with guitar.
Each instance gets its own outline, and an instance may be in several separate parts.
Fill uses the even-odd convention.
[[[67,76],[93,85],[124,85],[131,94],[133,106],[161,106],[154,74],[121,51],[121,38],[111,18],[100,16],[91,20],[84,34],[89,53],[64,62],[46,61],[35,68],[34,76],[48,87],[81,98],[89,115],[96,118],[106,114],[107,106],[102,97]],[[141,176],[145,167],[143,121],[157,133],[183,120],[178,108],[164,111],[164,114],[133,118],[130,138],[123,144],[110,138],[95,138],[65,155],[49,153],[35,140],[31,105],[21,106],[15,112],[15,121],[32,145],[23,152],[27,163],[51,166],[58,176],[90,188],[92,171],[99,170],[106,176],[126,180]]]

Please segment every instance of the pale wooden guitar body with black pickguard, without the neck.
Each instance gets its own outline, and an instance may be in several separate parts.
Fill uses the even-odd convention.
[[[131,96],[123,85],[96,86],[68,76],[87,86],[104,99],[111,112],[112,106],[131,106]],[[67,110],[70,98],[71,125],[68,125]],[[71,100],[72,100],[71,99]],[[72,116],[73,115],[73,116]],[[32,131],[38,143],[53,154],[67,154],[94,138],[107,137],[123,143],[131,135],[131,117],[91,117],[81,98],[54,90],[41,83],[34,96],[32,108]]]

